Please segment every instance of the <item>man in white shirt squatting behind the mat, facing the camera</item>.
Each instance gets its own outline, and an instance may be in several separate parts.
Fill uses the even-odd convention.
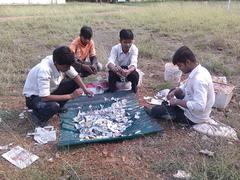
[[[120,31],[120,43],[113,46],[106,67],[109,69],[109,90],[116,91],[116,82],[126,79],[132,83],[132,91],[137,93],[139,74],[136,71],[138,48],[133,44],[130,29]]]

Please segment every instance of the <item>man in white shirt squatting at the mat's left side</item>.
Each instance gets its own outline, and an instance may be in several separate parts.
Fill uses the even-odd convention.
[[[52,56],[44,58],[28,73],[23,94],[27,107],[33,110],[31,119],[37,126],[44,126],[54,114],[61,112],[68,100],[83,92],[92,95],[71,66],[74,59],[71,50],[62,46],[56,48]],[[64,74],[70,79],[63,80]]]

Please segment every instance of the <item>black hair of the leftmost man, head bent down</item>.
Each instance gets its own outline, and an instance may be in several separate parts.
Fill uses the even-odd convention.
[[[58,65],[72,65],[74,54],[67,46],[60,46],[53,51],[53,62]]]

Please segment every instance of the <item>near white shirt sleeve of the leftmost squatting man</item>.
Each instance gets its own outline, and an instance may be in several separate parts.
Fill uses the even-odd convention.
[[[37,76],[38,91],[40,97],[49,96],[50,92],[51,74],[47,70],[39,70]]]

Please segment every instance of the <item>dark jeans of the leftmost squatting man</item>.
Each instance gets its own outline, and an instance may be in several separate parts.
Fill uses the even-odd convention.
[[[63,80],[51,95],[70,94],[77,88],[78,85],[73,80]],[[36,95],[26,97],[26,106],[32,109],[34,115],[41,121],[48,121],[54,114],[59,113],[66,102],[67,101],[44,101]]]

